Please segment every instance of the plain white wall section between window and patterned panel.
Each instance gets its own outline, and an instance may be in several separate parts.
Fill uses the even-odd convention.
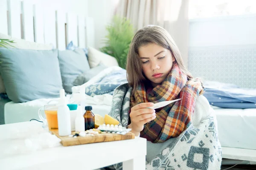
[[[190,20],[189,46],[256,44],[256,15]]]

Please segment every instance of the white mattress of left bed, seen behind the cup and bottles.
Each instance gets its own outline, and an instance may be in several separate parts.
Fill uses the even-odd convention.
[[[108,101],[112,100],[112,96],[110,99],[110,96],[108,96]],[[66,101],[70,98],[70,95],[66,96]],[[94,98],[95,99],[95,98]],[[104,116],[105,114],[108,114],[111,110],[111,105],[109,102],[100,102],[99,99],[102,99],[102,101],[106,100],[106,97],[104,95],[97,96],[97,101],[93,101],[92,99],[88,99],[87,102],[84,105],[91,105],[93,108],[94,114],[99,114],[101,116]],[[31,119],[38,119],[38,110],[39,108],[44,107],[47,102],[55,100],[56,99],[36,99],[29,102],[23,102],[23,103],[14,103],[14,102],[8,102],[5,104],[5,111],[4,111],[4,118],[5,118],[5,124],[9,123],[17,123],[17,122],[26,122],[30,121]]]

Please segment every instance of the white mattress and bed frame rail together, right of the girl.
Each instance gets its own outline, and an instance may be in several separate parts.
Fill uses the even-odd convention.
[[[222,157],[256,164],[256,109],[213,108]]]

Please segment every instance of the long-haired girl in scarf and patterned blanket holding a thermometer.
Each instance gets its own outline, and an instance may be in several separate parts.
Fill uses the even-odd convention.
[[[118,119],[122,126],[128,125],[135,136],[147,139],[148,166],[168,168],[165,163],[167,160],[168,164],[177,164],[179,168],[183,165],[181,169],[188,167],[201,169],[201,165],[189,166],[189,161],[186,162],[186,159],[179,162],[177,158],[172,157],[176,154],[175,147],[180,150],[186,148],[184,155],[188,157],[193,142],[195,145],[203,142],[205,136],[197,134],[197,130],[205,132],[209,121],[205,122],[205,126],[200,127],[201,129],[198,126],[209,117],[212,109],[207,99],[201,95],[204,92],[201,81],[193,79],[186,70],[170,34],[160,26],[146,26],[137,31],[128,52],[126,69],[128,85],[120,85],[114,91],[110,115]],[[149,108],[153,103],[174,99],[180,100],[156,110]],[[214,120],[212,122],[212,125],[215,125]],[[193,129],[194,127],[198,128]],[[195,130],[192,133],[195,138],[186,135],[186,139],[183,139],[183,134],[189,134],[189,130]],[[213,131],[215,130],[214,127]],[[181,143],[189,139],[191,140],[189,144]],[[215,136],[214,141],[214,144],[209,145],[219,149],[218,137]],[[166,148],[173,150],[167,152]],[[210,151],[214,152],[215,149],[212,148]],[[208,158],[206,162],[198,160],[203,162],[204,168],[208,167],[209,162],[209,153],[205,154]],[[221,159],[220,152],[213,157],[215,156],[216,161]],[[187,160],[194,160],[192,157],[194,156],[190,156]],[[157,164],[154,160],[158,160]],[[220,163],[213,162],[212,168],[218,169]],[[149,167],[148,169],[151,169]],[[115,165],[115,168],[120,169],[120,166]]]

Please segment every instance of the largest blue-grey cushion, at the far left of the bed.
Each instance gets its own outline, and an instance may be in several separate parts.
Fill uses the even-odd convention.
[[[55,98],[62,88],[58,51],[0,48],[0,73],[13,102]]]

